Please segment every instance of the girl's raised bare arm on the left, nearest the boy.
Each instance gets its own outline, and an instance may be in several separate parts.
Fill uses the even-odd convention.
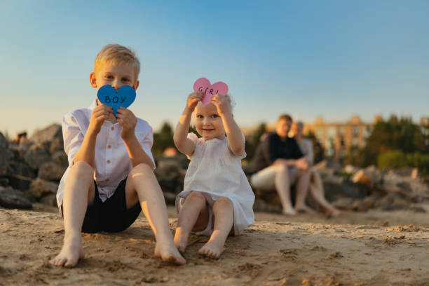
[[[175,134],[173,135],[173,140],[177,149],[187,155],[192,156],[193,151],[195,150],[195,144],[188,139],[189,124],[191,123],[192,112],[195,109],[198,102],[203,98],[203,93],[191,93],[188,96],[186,102],[186,107],[182,113],[182,116],[179,118],[179,122],[176,125]]]

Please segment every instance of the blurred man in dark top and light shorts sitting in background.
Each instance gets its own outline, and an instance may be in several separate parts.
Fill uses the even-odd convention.
[[[275,189],[282,203],[283,214],[297,214],[297,211],[313,212],[305,204],[310,171],[308,162],[295,139],[288,137],[292,118],[282,114],[270,133],[261,142],[252,162],[254,175],[250,182],[261,190]],[[297,182],[297,200],[292,207],[290,186]]]

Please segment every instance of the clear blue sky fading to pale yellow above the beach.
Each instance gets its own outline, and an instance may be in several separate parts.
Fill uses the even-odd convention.
[[[107,43],[142,71],[130,109],[175,125],[193,82],[224,81],[240,126],[429,116],[429,1],[1,0],[0,131],[61,122],[96,97]]]

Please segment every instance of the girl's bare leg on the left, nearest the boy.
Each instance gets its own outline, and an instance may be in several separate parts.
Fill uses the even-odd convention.
[[[198,191],[189,193],[179,213],[175,233],[175,245],[184,252],[191,231],[203,231],[208,223],[209,210],[205,197]]]

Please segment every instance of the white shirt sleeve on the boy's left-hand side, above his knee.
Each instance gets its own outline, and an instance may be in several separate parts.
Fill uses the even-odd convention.
[[[76,117],[73,114],[66,114],[62,118],[62,137],[70,167],[73,165],[74,156],[81,148],[84,136]]]

